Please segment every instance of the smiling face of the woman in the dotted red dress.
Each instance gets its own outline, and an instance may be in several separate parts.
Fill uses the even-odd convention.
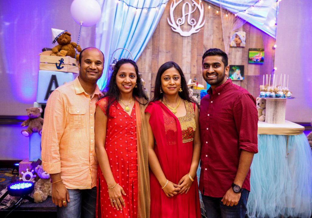
[[[119,67],[116,74],[116,86],[120,94],[131,93],[137,81],[134,66],[131,63],[124,63]]]

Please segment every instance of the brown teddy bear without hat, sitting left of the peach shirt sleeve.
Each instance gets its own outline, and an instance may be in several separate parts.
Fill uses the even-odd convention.
[[[29,137],[33,132],[38,132],[41,135],[43,119],[40,117],[42,113],[42,108],[32,107],[26,109],[27,116],[29,117],[25,120],[21,126],[28,126],[27,129],[22,130],[22,135]]]

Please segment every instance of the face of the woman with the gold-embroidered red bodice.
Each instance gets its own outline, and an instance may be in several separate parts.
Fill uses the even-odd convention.
[[[161,75],[161,88],[164,94],[175,95],[181,87],[181,75],[174,67],[165,70]]]

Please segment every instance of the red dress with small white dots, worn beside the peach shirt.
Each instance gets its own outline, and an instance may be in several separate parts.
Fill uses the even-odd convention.
[[[102,98],[96,105],[106,114],[108,98]],[[110,106],[110,116],[107,118],[105,150],[110,162],[110,169],[116,183],[126,195],[122,195],[125,208],[117,211],[110,204],[107,183],[100,165],[97,175],[96,217],[135,218],[138,213],[138,170],[135,104],[131,115],[127,114],[115,101]]]

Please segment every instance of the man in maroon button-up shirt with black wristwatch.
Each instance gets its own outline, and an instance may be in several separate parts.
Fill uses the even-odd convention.
[[[242,217],[250,192],[250,165],[258,152],[255,98],[227,79],[227,54],[209,49],[202,76],[211,85],[201,100],[199,189],[207,217]]]

